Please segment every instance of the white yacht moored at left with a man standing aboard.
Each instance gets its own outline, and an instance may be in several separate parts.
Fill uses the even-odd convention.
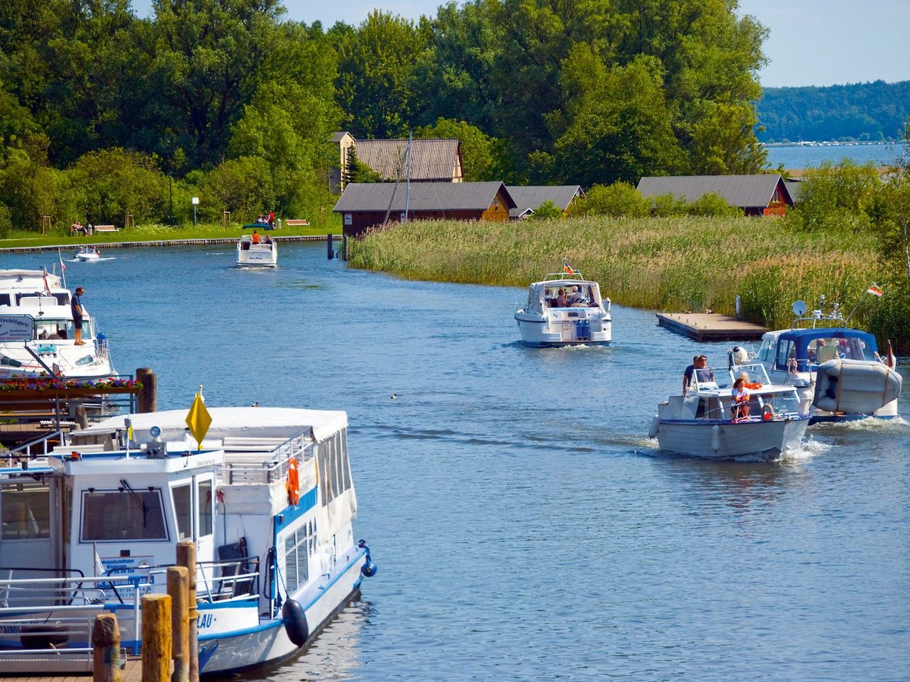
[[[84,345],[76,346],[70,299],[59,276],[44,270],[0,270],[0,320],[27,322],[31,329],[18,340],[0,340],[0,379],[116,375],[106,336],[94,317],[83,318]]]

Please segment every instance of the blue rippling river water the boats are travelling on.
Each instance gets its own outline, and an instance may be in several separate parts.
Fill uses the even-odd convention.
[[[157,371],[160,408],[204,384],[209,406],[349,412],[379,574],[260,678],[910,676],[904,421],[813,427],[775,464],[660,456],[656,404],[726,345],[650,311],[615,306],[611,347],[535,350],[516,343],[520,289],[349,271],[323,245],[281,246],[273,272],[230,248],[110,253],[69,285],[116,366]]]

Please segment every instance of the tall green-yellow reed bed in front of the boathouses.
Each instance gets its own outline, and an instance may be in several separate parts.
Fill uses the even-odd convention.
[[[870,236],[794,234],[758,218],[570,218],[521,223],[413,222],[349,246],[349,265],[413,279],[526,286],[563,257],[616,303],[743,314],[779,328],[790,306],[824,294],[847,312],[881,280]],[[871,296],[866,296],[871,299]],[[875,300],[851,324],[868,324]]]

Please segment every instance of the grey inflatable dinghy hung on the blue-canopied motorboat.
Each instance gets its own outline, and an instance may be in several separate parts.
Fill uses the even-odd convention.
[[[827,412],[871,415],[901,395],[903,381],[880,362],[828,360],[818,366],[812,404]]]

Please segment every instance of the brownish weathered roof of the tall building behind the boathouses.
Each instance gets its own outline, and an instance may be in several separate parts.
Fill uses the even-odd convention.
[[[385,180],[408,175],[408,140],[359,140],[354,146],[357,160],[369,165]],[[459,141],[451,139],[412,140],[410,179],[451,182],[459,167]]]

